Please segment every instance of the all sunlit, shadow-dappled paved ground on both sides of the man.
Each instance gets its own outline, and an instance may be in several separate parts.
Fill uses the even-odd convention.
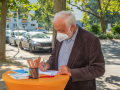
[[[97,90],[120,90],[120,40],[100,41],[106,63],[106,72],[104,76],[97,78]],[[29,53],[27,50],[21,50],[16,57],[13,57],[17,53],[17,47],[8,44],[6,47],[7,58],[12,60],[0,62],[0,90],[7,90],[1,77],[4,72],[28,67],[26,59],[35,59],[41,56],[47,60],[50,56],[50,53],[46,52]]]

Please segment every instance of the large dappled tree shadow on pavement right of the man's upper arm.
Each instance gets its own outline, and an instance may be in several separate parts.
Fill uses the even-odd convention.
[[[120,42],[109,40],[109,43],[101,45],[106,64],[120,65]]]

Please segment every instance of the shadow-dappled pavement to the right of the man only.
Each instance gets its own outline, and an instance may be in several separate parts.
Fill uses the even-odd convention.
[[[97,78],[97,89],[120,90],[120,40],[101,40],[101,45],[106,72]]]

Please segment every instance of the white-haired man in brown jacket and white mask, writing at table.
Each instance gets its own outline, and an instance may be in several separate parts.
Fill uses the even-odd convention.
[[[45,68],[41,62],[40,69],[69,75],[65,90],[96,90],[95,78],[105,72],[99,39],[76,25],[75,16],[69,11],[55,14],[54,29],[54,49]]]

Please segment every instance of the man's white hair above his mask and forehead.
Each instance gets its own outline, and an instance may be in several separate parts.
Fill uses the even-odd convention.
[[[60,18],[65,18],[65,24],[67,25],[67,27],[69,27],[71,24],[74,24],[76,26],[75,16],[70,11],[60,11],[56,13],[54,16],[54,22]]]

